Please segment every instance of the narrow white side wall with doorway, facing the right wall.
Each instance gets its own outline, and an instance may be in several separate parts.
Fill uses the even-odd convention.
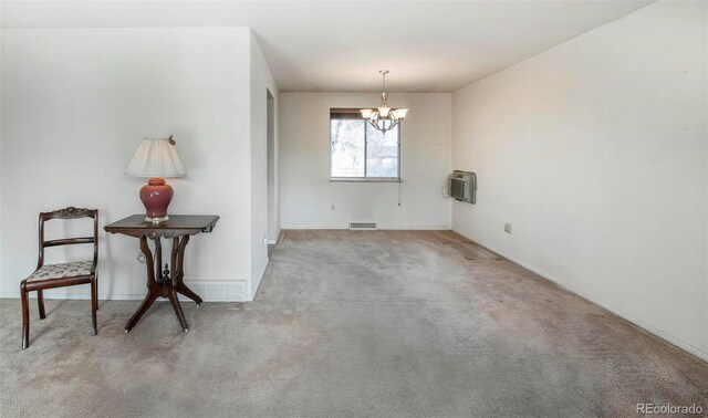
[[[247,300],[253,300],[268,264],[268,91],[278,108],[278,85],[266,58],[250,33],[251,64],[251,280],[246,290]],[[278,115],[275,115],[278,121]],[[275,144],[278,144],[275,132]],[[278,187],[278,182],[273,184]],[[277,191],[275,191],[277,196]]]

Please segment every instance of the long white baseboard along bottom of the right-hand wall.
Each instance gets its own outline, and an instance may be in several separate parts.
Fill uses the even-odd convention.
[[[457,231],[454,231],[454,232],[459,233]],[[465,237],[461,233],[459,233],[459,234],[461,237]],[[708,353],[701,351],[698,347],[695,347],[690,343],[687,343],[687,342],[685,342],[685,341],[683,341],[680,338],[677,338],[677,337],[675,337],[675,336],[673,336],[670,334],[667,334],[666,332],[664,332],[664,331],[662,331],[662,330],[659,330],[659,328],[657,328],[657,327],[655,327],[655,326],[653,326],[650,324],[647,324],[646,322],[637,318],[636,316],[634,316],[634,315],[632,315],[632,314],[629,314],[627,312],[624,312],[624,311],[622,311],[620,309],[616,309],[616,307],[614,307],[612,305],[608,305],[605,302],[596,299],[595,296],[593,296],[593,295],[591,295],[591,294],[589,294],[589,293],[586,293],[586,292],[584,292],[584,291],[582,291],[582,290],[580,290],[580,289],[577,289],[575,286],[569,285],[568,283],[564,283],[564,282],[551,276],[550,274],[546,274],[545,272],[542,272],[542,271],[540,271],[540,270],[527,264],[523,261],[517,260],[517,259],[511,258],[511,257],[507,257],[501,251],[498,251],[497,249],[494,249],[491,245],[487,245],[483,242],[479,242],[479,241],[472,240],[469,237],[465,237],[465,238],[467,238],[468,240],[472,241],[473,243],[476,243],[476,244],[478,244],[478,245],[480,245],[480,247],[482,247],[482,248],[485,248],[485,249],[487,249],[487,250],[489,250],[489,251],[491,251],[491,252],[493,252],[496,254],[499,254],[499,255],[503,257],[504,259],[507,259],[507,260],[509,260],[509,261],[511,261],[511,262],[513,262],[516,264],[521,265],[522,268],[524,268],[524,269],[527,269],[527,270],[540,275],[541,278],[543,278],[543,279],[545,279],[545,280],[548,280],[550,282],[555,283],[556,285],[565,289],[566,291],[569,291],[571,293],[574,293],[574,294],[579,295],[580,297],[582,297],[582,299],[584,299],[584,300],[586,300],[586,301],[589,301],[589,302],[591,302],[591,303],[593,303],[593,304],[595,304],[597,306],[603,307],[604,310],[607,310],[607,311],[612,312],[613,314],[622,317],[623,320],[626,320],[626,321],[633,323],[634,325],[641,327],[642,330],[644,330],[644,331],[646,331],[646,332],[648,332],[650,334],[656,335],[657,337],[659,337],[659,338],[662,338],[662,339],[664,339],[664,341],[677,346],[678,348],[680,348],[680,349],[683,349],[685,352],[688,352],[688,353],[695,355],[696,357],[698,357],[698,358],[700,358],[702,360],[708,362]]]

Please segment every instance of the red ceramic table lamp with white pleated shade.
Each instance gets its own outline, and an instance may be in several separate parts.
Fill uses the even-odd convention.
[[[149,177],[147,185],[140,189],[146,222],[159,223],[169,219],[167,207],[173,200],[174,191],[165,182],[165,177],[181,177],[185,173],[171,135],[169,138],[143,138],[125,174]]]

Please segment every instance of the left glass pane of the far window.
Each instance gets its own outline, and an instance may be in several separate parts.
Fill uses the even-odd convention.
[[[365,122],[332,119],[332,177],[364,177]]]

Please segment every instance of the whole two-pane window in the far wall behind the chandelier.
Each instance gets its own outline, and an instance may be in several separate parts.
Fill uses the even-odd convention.
[[[400,125],[382,134],[358,109],[330,111],[332,180],[400,179]]]

